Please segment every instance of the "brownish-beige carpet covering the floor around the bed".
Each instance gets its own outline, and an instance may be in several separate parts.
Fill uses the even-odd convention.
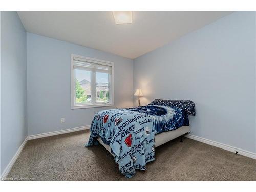
[[[28,141],[7,180],[256,180],[256,160],[188,138],[157,147],[156,160],[128,179],[103,146],[84,147],[88,138],[79,131]]]

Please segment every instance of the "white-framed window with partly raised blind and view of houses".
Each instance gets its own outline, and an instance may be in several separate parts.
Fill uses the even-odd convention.
[[[71,108],[114,105],[114,63],[71,54]]]

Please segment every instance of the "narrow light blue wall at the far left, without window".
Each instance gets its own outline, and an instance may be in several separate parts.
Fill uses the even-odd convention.
[[[1,175],[27,137],[26,31],[1,12]]]

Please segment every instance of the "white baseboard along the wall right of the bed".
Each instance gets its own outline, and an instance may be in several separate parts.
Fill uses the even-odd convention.
[[[230,152],[234,152],[234,153],[238,152],[238,154],[240,154],[240,155],[250,157],[252,159],[256,159],[256,153],[245,151],[245,150],[242,150],[241,148],[229,146],[229,145],[226,145],[226,144],[223,144],[223,143],[219,143],[219,142],[216,142],[216,141],[212,141],[212,140],[209,140],[209,139],[205,139],[205,138],[198,137],[198,136],[195,136],[195,135],[190,135],[190,134],[186,135],[185,137],[187,137],[189,139],[196,140],[196,141],[200,141],[202,143],[206,143],[206,144],[209,144],[209,145],[212,145],[212,146],[216,146],[216,147],[222,148],[223,150],[227,150],[227,151],[230,151]]]

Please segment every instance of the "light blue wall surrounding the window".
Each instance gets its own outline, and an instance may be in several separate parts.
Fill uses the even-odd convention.
[[[109,108],[71,110],[70,54],[114,62],[112,108],[133,106],[133,60],[103,51],[27,33],[28,133],[47,133],[90,125]],[[60,123],[60,118],[65,123]]]

